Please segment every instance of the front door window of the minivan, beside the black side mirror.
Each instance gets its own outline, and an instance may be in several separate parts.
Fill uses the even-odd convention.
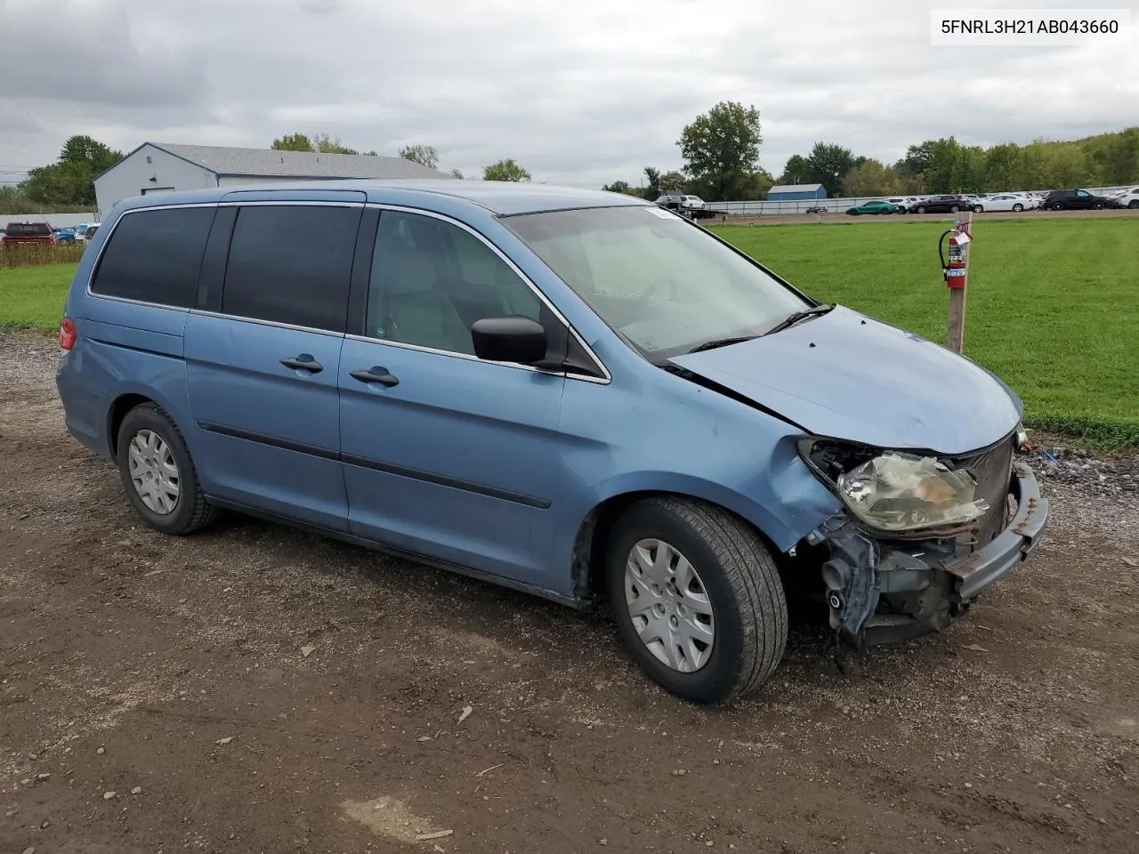
[[[474,355],[483,318],[539,320],[534,291],[481,239],[450,222],[385,211],[368,287],[372,338]]]

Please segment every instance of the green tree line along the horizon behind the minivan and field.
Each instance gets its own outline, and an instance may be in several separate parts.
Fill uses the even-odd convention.
[[[767,198],[772,184],[821,183],[830,197],[999,192],[1001,190],[1112,187],[1139,183],[1139,126],[1071,141],[1003,142],[983,148],[954,137],[909,146],[893,164],[855,156],[842,145],[817,142],[804,155],[787,159],[772,178],[760,166],[760,113],[754,106],[722,101],[686,125],[677,140],[683,166],[662,172],[646,166],[638,186],[618,180],[603,189],[656,199],[665,192],[691,194],[710,202]],[[272,141],[287,151],[376,155],[344,145],[327,133],[288,133]],[[95,176],[122,153],[79,134],[64,142],[55,163],[38,166],[16,186],[0,187],[0,213],[90,211]],[[409,145],[400,157],[439,169],[434,146]],[[453,178],[464,178],[452,169]],[[530,181],[531,173],[514,158],[483,167],[486,181]]]

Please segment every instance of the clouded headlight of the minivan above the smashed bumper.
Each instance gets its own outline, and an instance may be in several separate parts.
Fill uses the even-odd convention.
[[[836,486],[862,522],[883,531],[964,525],[989,510],[973,475],[933,457],[887,452],[839,475]]]

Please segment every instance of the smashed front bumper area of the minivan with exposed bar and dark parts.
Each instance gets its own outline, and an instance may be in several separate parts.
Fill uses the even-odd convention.
[[[830,624],[839,641],[862,648],[944,629],[976,596],[1036,548],[1048,522],[1048,500],[1031,469],[1014,463],[1009,494],[1016,511],[980,548],[961,537],[890,541],[867,532],[847,514],[814,532],[826,543],[822,565]]]

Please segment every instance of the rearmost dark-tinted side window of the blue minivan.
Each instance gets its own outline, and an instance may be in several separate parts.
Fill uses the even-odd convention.
[[[215,211],[174,207],[124,214],[95,271],[91,291],[189,309]]]

